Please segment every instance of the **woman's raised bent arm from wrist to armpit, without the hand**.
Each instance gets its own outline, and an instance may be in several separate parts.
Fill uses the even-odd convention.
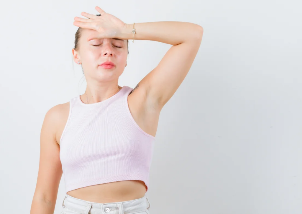
[[[119,37],[132,39],[133,24],[127,24]],[[134,39],[172,45],[159,64],[136,88],[145,90],[149,102],[162,108],[185,79],[201,44],[203,28],[188,22],[135,23]]]

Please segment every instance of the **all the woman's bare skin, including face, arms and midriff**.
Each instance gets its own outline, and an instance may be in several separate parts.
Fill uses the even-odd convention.
[[[111,26],[107,22],[111,19],[116,20],[115,17],[106,16],[106,13],[100,8],[97,10],[106,20],[100,21],[101,26]],[[82,15],[91,19],[95,18],[95,16],[87,15],[84,12]],[[81,18],[76,19],[82,20]],[[82,24],[77,23],[76,26],[80,25]],[[82,31],[79,49],[73,49],[72,54],[76,64],[81,62],[87,81],[86,93],[80,96],[83,103],[92,104],[104,101],[120,90],[117,83],[127,65],[126,39],[132,39],[132,26],[132,24],[126,24],[121,29],[120,35],[113,37],[124,39],[123,41],[116,41],[112,38],[97,38],[98,40],[87,41],[87,38],[95,34],[96,31],[93,29]],[[201,44],[203,28],[193,23],[184,22],[136,23],[135,27],[139,32],[136,39],[172,45],[159,64],[133,88],[128,96],[128,106],[133,119],[141,129],[155,137],[160,111],[190,70]],[[187,32],[191,33],[188,34]],[[98,44],[100,46],[92,46]],[[114,45],[122,46],[122,48],[116,48]],[[116,66],[110,70],[98,66],[107,60]],[[40,135],[40,164],[31,214],[50,214],[54,211],[59,182],[63,174],[59,158],[59,140],[68,115],[69,102],[52,107],[45,115]],[[144,182],[135,180],[88,186],[69,191],[67,194],[96,203],[111,203],[138,199],[143,197],[145,193]]]

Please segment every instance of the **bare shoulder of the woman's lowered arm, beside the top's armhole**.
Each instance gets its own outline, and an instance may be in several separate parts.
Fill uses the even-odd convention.
[[[48,123],[49,130],[55,136],[57,144],[60,144],[60,138],[69,115],[69,102],[55,105],[47,111],[45,122]]]

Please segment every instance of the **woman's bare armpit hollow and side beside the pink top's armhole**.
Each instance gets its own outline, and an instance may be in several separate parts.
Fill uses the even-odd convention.
[[[145,84],[139,82],[128,95],[128,107],[137,125],[147,134],[155,137],[161,107],[148,98]]]

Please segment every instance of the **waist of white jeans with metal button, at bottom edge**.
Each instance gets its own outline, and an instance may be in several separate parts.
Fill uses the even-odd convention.
[[[61,214],[150,214],[150,203],[146,195],[130,201],[94,203],[66,194],[62,206]]]

